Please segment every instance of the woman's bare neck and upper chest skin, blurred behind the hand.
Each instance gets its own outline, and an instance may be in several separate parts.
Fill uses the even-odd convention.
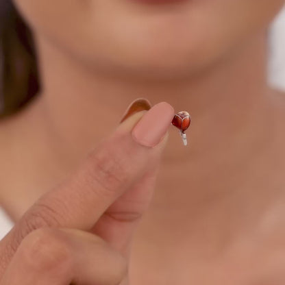
[[[262,29],[203,72],[166,82],[91,72],[38,36],[45,90],[0,127],[3,207],[18,221],[133,99],[168,101],[193,118],[190,147],[173,128],[130,284],[284,284],[285,97],[267,86],[266,45]]]

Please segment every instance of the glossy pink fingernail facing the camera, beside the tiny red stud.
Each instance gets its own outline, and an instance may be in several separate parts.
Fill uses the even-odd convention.
[[[132,130],[134,140],[145,147],[155,147],[165,136],[175,112],[169,103],[153,106]]]

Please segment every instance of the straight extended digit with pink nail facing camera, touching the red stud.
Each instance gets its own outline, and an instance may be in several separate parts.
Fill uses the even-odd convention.
[[[4,262],[0,274],[23,238],[33,230],[91,230],[112,203],[157,163],[173,116],[168,103],[158,103],[125,120],[99,143],[73,175],[40,197],[1,240],[0,256]]]

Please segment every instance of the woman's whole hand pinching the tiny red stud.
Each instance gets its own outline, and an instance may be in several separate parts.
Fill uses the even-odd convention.
[[[173,116],[162,102],[129,117],[40,197],[0,242],[0,284],[127,284],[132,233]]]

